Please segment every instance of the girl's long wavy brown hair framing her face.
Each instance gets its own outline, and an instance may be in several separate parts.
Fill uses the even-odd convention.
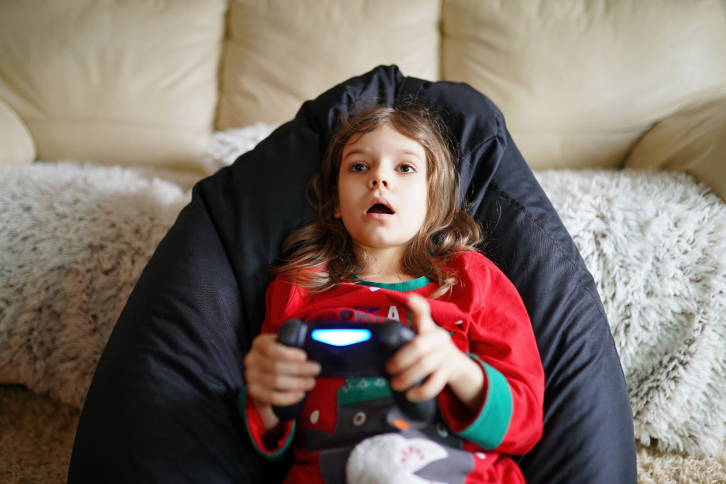
[[[364,271],[366,261],[356,255],[343,222],[335,218],[338,173],[346,143],[383,126],[417,141],[426,153],[427,216],[404,251],[401,271],[410,276],[427,276],[439,284],[434,298],[457,284],[456,275],[446,271],[446,266],[457,252],[476,249],[480,242],[478,226],[457,203],[457,171],[441,126],[428,111],[412,107],[378,106],[351,119],[340,118],[320,171],[311,182],[317,220],[287,237],[285,258],[272,268],[273,274],[285,275],[295,284],[319,292]]]

